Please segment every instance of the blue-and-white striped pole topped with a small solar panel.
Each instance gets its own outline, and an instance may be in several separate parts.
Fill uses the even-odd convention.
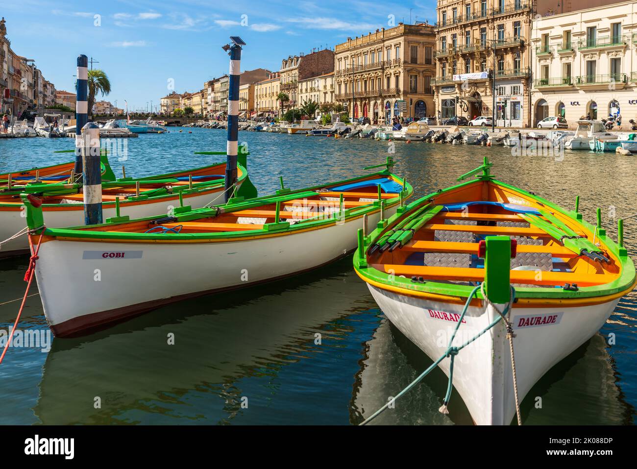
[[[239,140],[239,76],[241,75],[241,46],[230,47],[230,79],[228,87],[228,143],[225,162],[225,201],[233,196],[237,182],[237,150]]]

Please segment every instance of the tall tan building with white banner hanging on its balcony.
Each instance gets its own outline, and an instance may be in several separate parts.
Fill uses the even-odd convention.
[[[531,7],[531,0],[438,1],[438,119],[494,115],[497,126],[529,126]]]

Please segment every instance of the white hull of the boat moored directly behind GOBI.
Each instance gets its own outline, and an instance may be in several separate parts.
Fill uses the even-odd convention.
[[[240,182],[240,185],[243,181]],[[184,194],[184,205],[192,208],[201,208],[224,191],[224,187],[217,187],[210,191],[199,194]],[[219,203],[223,201],[219,199]],[[168,213],[171,207],[179,206],[178,194],[173,194],[166,198],[148,203],[148,201],[122,202],[120,205],[120,215],[128,215],[131,219],[150,217],[157,213]],[[84,206],[81,203],[43,205],[43,212],[47,226],[80,226],[84,224]],[[106,220],[117,216],[115,213],[115,203],[104,203],[102,206],[103,219]],[[0,240],[6,240],[26,227],[25,212],[22,205],[0,206]],[[25,254],[29,250],[29,240],[27,236],[20,236],[2,245],[0,258]]]

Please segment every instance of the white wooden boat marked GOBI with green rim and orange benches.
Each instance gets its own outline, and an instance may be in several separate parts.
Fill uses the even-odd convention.
[[[48,324],[56,336],[78,335],[189,296],[275,280],[345,256],[365,219],[376,224],[382,211],[395,213],[412,194],[390,173],[391,164],[372,175],[224,206],[47,228],[36,277]],[[29,226],[41,227],[39,208],[25,205]],[[32,236],[38,243],[39,235]]]

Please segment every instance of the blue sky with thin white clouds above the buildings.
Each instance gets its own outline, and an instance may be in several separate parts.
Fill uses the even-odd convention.
[[[412,11],[410,12],[410,8]],[[195,92],[227,73],[229,36],[247,45],[241,69],[277,71],[288,55],[334,48],[399,22],[436,16],[436,0],[109,0],[1,2],[13,51],[34,59],[58,90],[75,90],[77,56],[92,57],[111,82],[104,97],[129,110],[159,105],[173,89]],[[90,68],[90,64],[89,64]],[[102,99],[101,96],[98,99]]]

